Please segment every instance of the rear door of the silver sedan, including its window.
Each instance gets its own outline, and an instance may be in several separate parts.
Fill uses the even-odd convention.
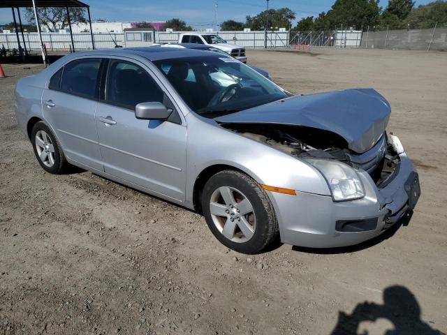
[[[68,159],[102,171],[95,124],[100,66],[100,58],[65,64],[44,90],[42,107],[43,117],[57,134]]]

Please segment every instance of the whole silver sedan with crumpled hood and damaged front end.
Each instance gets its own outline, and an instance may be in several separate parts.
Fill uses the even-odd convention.
[[[17,82],[41,167],[72,164],[205,216],[222,244],[358,244],[409,218],[418,174],[373,89],[293,96],[215,52],[78,52]]]

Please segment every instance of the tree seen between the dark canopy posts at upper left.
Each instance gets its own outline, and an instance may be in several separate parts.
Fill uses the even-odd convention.
[[[68,8],[70,13],[71,24],[85,23],[86,10],[81,7]],[[56,31],[56,29],[65,29],[68,27],[68,17],[66,8],[62,7],[38,7],[37,16],[41,26],[47,27],[49,31]],[[31,24],[36,24],[34,20],[34,9],[32,7],[25,8],[25,17]]]

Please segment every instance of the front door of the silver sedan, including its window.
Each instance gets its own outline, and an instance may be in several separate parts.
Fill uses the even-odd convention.
[[[143,64],[110,59],[105,95],[96,107],[104,170],[153,193],[184,201],[186,126],[135,118],[135,105],[161,102],[175,109]],[[176,110],[173,113],[177,113]]]

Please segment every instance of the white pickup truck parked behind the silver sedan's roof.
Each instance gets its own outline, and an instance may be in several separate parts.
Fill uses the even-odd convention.
[[[179,37],[179,43],[198,43],[207,44],[217,47],[217,49],[223,50],[227,54],[235,57],[235,59],[247,63],[247,56],[245,56],[245,48],[237,45],[228,44],[226,40],[216,34],[181,34]]]

